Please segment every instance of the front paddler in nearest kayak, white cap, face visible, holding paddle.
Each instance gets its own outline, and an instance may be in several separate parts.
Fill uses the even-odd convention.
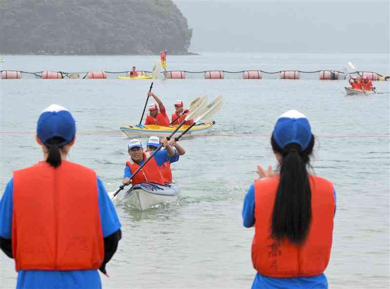
[[[152,160],[150,160],[131,180],[130,177],[133,172],[137,170],[151,155],[150,151],[143,151],[142,144],[137,139],[132,139],[127,145],[127,150],[130,160],[126,162],[124,176],[122,183],[136,185],[141,182],[154,182],[163,185],[165,183],[161,174],[160,167],[169,161],[169,157],[175,155],[174,148],[168,143],[166,138],[161,139],[161,143],[165,149],[156,153]]]

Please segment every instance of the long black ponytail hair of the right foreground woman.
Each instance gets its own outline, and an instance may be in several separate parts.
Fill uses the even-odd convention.
[[[273,136],[274,152],[282,156],[280,180],[272,212],[271,237],[301,245],[312,222],[312,191],[309,183],[310,156],[314,146],[314,135],[306,149],[299,144],[287,144],[280,148]]]

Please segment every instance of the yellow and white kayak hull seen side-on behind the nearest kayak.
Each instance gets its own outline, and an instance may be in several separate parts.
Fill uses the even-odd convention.
[[[193,126],[188,132],[186,132],[183,137],[192,136],[197,134],[204,134],[209,132],[210,128],[215,124],[215,122],[208,122],[204,124],[199,124]],[[137,126],[121,126],[120,130],[126,134],[128,137],[167,137],[175,131],[177,126],[156,126],[156,125],[137,125]],[[180,129],[176,132],[179,135],[183,132],[188,126],[181,126]]]

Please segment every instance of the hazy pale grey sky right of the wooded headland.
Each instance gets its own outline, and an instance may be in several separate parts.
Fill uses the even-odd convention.
[[[390,0],[174,0],[192,52],[389,53]]]

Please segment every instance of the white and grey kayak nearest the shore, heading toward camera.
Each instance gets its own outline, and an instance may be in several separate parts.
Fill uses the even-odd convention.
[[[122,201],[144,211],[159,203],[176,201],[179,198],[179,191],[179,187],[174,182],[165,185],[141,182],[123,194]]]

